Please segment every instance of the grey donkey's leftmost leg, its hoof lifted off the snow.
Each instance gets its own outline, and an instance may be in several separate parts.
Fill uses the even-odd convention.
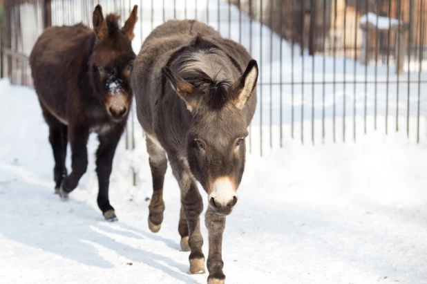
[[[153,196],[149,205],[149,228],[153,233],[157,233],[163,221],[163,184],[164,173],[167,169],[167,158],[165,151],[155,144],[151,138],[146,138],[146,150],[149,153],[151,176],[153,177]]]

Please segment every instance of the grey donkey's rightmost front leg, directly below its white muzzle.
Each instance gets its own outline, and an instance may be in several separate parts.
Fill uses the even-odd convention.
[[[225,229],[225,216],[216,214],[211,207],[205,214],[205,225],[209,234],[209,256],[207,257],[208,284],[224,284],[225,275],[222,272],[222,234]]]

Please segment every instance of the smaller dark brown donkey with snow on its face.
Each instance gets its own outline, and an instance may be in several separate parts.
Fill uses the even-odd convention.
[[[62,200],[77,187],[88,164],[86,144],[91,132],[99,139],[96,171],[97,203],[106,220],[117,220],[108,200],[115,148],[131,107],[131,40],[137,6],[123,28],[119,18],[104,19],[101,6],[93,12],[93,30],[82,25],[46,29],[30,55],[34,85],[55,158],[55,192]],[[67,140],[72,171],[65,167]]]

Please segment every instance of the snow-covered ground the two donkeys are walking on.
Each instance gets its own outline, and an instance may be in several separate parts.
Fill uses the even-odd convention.
[[[123,141],[117,150],[110,192],[120,220],[106,223],[95,201],[95,136],[87,173],[61,202],[34,91],[2,80],[0,101],[0,283],[206,283],[180,252],[169,169],[162,229],[148,229],[142,139],[134,151]],[[225,230],[227,283],[427,283],[426,169],[426,142],[382,133],[357,144],[286,139],[264,158],[248,155]],[[202,234],[207,254],[205,226]]]

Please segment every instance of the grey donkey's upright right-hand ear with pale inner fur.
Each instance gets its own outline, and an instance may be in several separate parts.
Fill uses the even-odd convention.
[[[252,59],[247,64],[245,73],[240,77],[233,86],[231,86],[231,94],[233,95],[234,105],[238,109],[243,109],[252,95],[258,79],[258,64]]]

